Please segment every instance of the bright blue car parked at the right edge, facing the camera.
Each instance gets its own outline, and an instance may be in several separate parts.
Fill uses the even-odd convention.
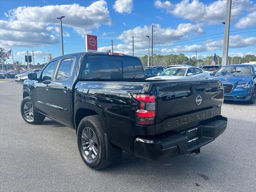
[[[220,79],[224,86],[224,100],[256,100],[256,65],[236,64],[222,66],[211,79]]]

